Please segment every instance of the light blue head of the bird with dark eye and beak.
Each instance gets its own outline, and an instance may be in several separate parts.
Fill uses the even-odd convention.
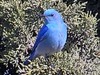
[[[45,21],[49,22],[56,22],[56,21],[63,21],[62,16],[58,11],[55,9],[48,9],[44,12],[43,16],[45,17]]]

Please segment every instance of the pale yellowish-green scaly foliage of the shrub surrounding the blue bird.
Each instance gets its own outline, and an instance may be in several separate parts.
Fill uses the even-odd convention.
[[[86,3],[67,6],[56,1],[0,1],[0,62],[8,62],[16,67],[16,73],[25,75],[99,75],[100,61],[99,38],[96,38],[98,20],[91,12],[85,13]],[[55,53],[48,61],[44,57],[36,58],[30,65],[24,66],[28,45],[35,41],[36,33],[43,24],[38,14],[43,10],[55,8],[61,12],[68,24],[68,41],[64,51]],[[5,71],[6,72],[6,71]]]

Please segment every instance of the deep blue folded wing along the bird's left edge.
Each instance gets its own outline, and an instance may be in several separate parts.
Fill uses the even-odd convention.
[[[40,31],[39,31],[39,33],[38,33],[38,36],[37,36],[37,39],[36,39],[36,41],[35,41],[33,50],[35,50],[36,47],[38,46],[38,44],[40,43],[40,41],[42,41],[42,40],[45,38],[45,34],[46,34],[47,30],[48,30],[48,27],[47,27],[46,25],[44,25],[44,26],[40,29]]]

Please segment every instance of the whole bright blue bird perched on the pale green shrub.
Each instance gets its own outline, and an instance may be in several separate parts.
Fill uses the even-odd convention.
[[[38,56],[50,56],[59,52],[67,40],[67,24],[55,9],[48,9],[43,14],[44,25],[40,29],[30,57],[24,62],[29,64]]]

